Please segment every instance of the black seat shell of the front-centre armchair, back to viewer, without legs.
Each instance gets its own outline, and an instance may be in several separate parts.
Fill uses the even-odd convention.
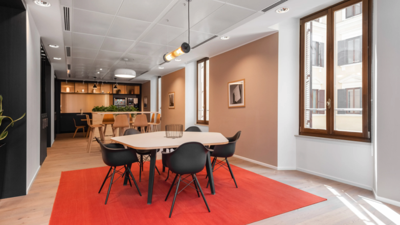
[[[188,142],[179,146],[176,150],[165,153],[166,165],[176,174],[198,173],[206,166],[208,149],[202,143]]]

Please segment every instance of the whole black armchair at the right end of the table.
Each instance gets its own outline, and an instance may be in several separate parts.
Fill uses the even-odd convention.
[[[235,154],[235,147],[236,147],[236,142],[237,140],[239,140],[240,137],[240,133],[241,131],[238,131],[235,136],[231,137],[231,138],[227,138],[229,143],[225,144],[225,145],[213,145],[210,148],[213,149],[214,151],[211,152],[211,157],[214,157],[211,165],[212,165],[212,171],[214,172],[215,170],[223,167],[224,169],[228,170],[231,173],[231,176],[233,178],[233,181],[235,182],[236,188],[237,188],[237,184],[236,184],[236,180],[235,180],[235,176],[233,175],[232,169],[231,169],[231,165],[229,165],[229,161],[228,158],[232,157]],[[215,163],[217,162],[217,158],[225,158],[222,161],[219,161],[216,165],[220,166],[214,170],[215,167]],[[226,163],[224,163],[224,161],[226,161]],[[223,164],[224,163],[224,164]],[[228,165],[228,169],[226,167],[224,167],[225,165]],[[206,176],[207,178],[207,176]],[[207,188],[208,188],[209,183],[207,183]]]

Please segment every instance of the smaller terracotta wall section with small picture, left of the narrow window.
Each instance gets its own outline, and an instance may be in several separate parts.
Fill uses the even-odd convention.
[[[175,93],[175,108],[168,108],[168,93]],[[167,124],[185,127],[185,68],[161,77],[161,130]]]

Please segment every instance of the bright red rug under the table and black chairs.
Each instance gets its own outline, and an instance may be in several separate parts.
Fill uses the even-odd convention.
[[[120,178],[111,188],[107,205],[109,179],[100,194],[98,191],[109,167],[62,172],[50,224],[248,224],[326,200],[231,165],[239,188],[229,171],[220,168],[214,172],[215,195],[206,189],[206,170],[197,174],[211,212],[202,197],[187,187],[176,196],[172,217],[168,218],[174,188],[164,200],[174,174],[165,182],[168,170],[161,171],[161,160],[157,166],[161,175],[156,171],[151,205],[147,205],[149,163],[145,163],[140,183],[139,166],[132,165],[142,196],[133,182],[132,187],[129,183],[123,186]]]

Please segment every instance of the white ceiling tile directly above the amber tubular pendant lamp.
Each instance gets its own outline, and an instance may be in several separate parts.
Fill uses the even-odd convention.
[[[154,28],[142,39],[143,42],[167,45],[170,41],[183,34],[185,29],[155,25]]]

